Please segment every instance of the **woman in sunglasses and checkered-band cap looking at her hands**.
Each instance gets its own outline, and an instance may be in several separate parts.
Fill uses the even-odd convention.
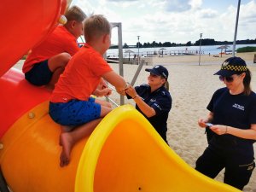
[[[250,87],[251,73],[240,57],[225,60],[215,75],[226,86],[213,94],[207,118],[198,120],[201,127],[212,124],[212,136],[195,169],[212,178],[225,169],[224,183],[242,190],[255,167],[256,94]]]

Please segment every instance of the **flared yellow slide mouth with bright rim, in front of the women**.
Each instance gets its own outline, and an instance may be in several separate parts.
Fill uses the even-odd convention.
[[[129,105],[116,108],[90,136],[75,187],[76,192],[240,191],[195,171]]]

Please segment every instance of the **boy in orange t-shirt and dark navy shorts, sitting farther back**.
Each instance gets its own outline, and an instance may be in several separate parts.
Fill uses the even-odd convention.
[[[54,85],[63,73],[67,62],[77,51],[77,38],[83,34],[83,21],[86,18],[82,9],[73,6],[65,14],[67,23],[56,26],[55,30],[27,56],[22,71],[31,84]]]

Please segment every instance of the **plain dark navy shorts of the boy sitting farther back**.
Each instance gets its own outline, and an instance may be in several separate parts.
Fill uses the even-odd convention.
[[[52,72],[48,67],[48,60],[36,63],[31,70],[25,73],[25,79],[31,84],[41,86],[49,84]]]

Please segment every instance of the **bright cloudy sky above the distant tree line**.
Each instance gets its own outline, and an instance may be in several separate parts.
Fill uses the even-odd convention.
[[[104,15],[122,24],[123,44],[171,42],[202,38],[233,41],[238,0],[73,0],[86,15]],[[256,0],[241,0],[237,40],[256,38]],[[112,43],[117,44],[117,28]]]

